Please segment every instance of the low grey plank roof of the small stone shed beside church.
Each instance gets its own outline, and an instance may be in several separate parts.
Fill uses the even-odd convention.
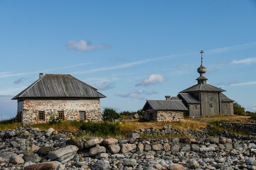
[[[142,110],[188,110],[181,100],[146,100]]]

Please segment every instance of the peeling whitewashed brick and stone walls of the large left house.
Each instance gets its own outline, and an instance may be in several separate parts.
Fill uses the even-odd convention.
[[[45,120],[38,119],[38,112],[45,112]],[[90,100],[24,100],[18,102],[18,113],[22,112],[25,124],[43,123],[50,117],[58,117],[58,111],[64,112],[64,120],[79,120],[79,112],[87,114],[87,121],[101,121],[99,99]]]

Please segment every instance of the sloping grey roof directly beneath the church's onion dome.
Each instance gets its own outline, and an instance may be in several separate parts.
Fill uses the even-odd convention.
[[[181,91],[180,93],[188,93],[193,91],[215,91],[215,92],[222,92],[225,91],[221,88],[211,86],[210,84],[196,84],[194,86],[191,86],[184,91]]]

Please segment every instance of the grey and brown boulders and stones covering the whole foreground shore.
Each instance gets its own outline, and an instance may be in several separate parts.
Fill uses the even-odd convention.
[[[230,136],[79,139],[18,127],[0,131],[0,170],[256,170],[255,137]]]

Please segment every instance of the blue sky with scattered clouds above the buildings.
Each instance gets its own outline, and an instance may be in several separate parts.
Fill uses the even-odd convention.
[[[254,0],[0,0],[0,115],[44,74],[70,74],[107,98],[102,108],[137,111],[207,83],[256,110]]]

